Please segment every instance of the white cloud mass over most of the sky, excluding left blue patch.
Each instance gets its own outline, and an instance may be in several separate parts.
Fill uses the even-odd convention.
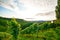
[[[44,18],[46,19],[47,17],[44,15],[49,15],[49,12],[52,11],[55,12],[56,5],[57,0],[0,0],[0,6],[13,11],[14,17],[21,19],[36,17],[36,20],[39,20],[40,18],[44,20]],[[42,15],[42,17],[35,16],[36,14]],[[49,19],[53,17],[53,19],[55,19],[55,13],[52,13],[51,15],[47,18]]]

